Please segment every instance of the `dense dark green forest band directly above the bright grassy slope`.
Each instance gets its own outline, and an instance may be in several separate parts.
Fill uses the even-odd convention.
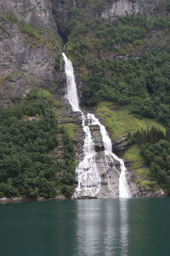
[[[131,113],[155,118],[170,127],[170,47],[147,51],[143,57],[122,60],[88,60],[83,76],[83,100],[95,105],[109,100],[133,104]],[[150,97],[149,97],[150,95]]]

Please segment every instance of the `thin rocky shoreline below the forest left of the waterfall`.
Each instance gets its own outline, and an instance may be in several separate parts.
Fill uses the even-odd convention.
[[[55,200],[67,200],[64,196],[56,196],[51,198],[25,198],[25,197],[14,197],[14,198],[8,198],[8,197],[2,197],[0,198],[0,203],[11,203],[11,202],[32,202],[32,201],[55,201]]]

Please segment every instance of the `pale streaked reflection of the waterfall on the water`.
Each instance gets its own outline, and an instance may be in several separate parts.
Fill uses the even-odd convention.
[[[128,199],[77,201],[76,256],[126,256]]]

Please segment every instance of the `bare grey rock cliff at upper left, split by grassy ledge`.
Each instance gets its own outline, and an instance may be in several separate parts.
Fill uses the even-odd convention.
[[[17,23],[4,17],[12,10],[18,20],[24,20],[35,29],[48,29],[58,35],[49,0],[0,1],[0,102],[5,106],[12,98],[23,98],[33,85],[49,87],[53,79],[55,58],[60,53],[22,33]],[[45,40],[45,38],[44,38]],[[10,75],[10,79],[6,76]]]

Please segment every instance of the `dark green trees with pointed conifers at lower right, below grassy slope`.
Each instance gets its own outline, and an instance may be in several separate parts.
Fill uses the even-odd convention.
[[[141,129],[131,141],[141,146],[141,155],[151,168],[151,180],[170,194],[170,129],[165,134],[154,126],[150,130]]]

